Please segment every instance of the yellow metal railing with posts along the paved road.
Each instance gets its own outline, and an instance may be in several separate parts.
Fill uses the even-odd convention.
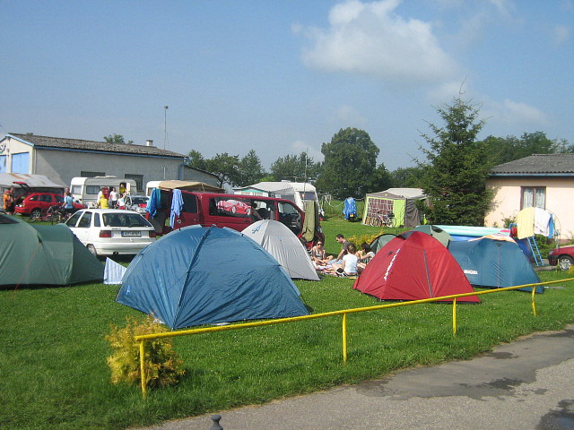
[[[483,291],[474,291],[473,293],[453,294],[450,296],[423,298],[421,300],[412,300],[409,302],[396,302],[396,303],[389,303],[386,305],[355,307],[352,309],[342,309],[339,311],[324,312],[322,314],[293,316],[290,318],[281,318],[281,319],[277,319],[277,320],[257,321],[257,322],[253,322],[253,323],[230,324],[230,325],[222,325],[222,326],[215,326],[215,327],[203,327],[201,329],[167,331],[167,332],[163,332],[163,333],[142,334],[139,336],[135,336],[135,338],[134,338],[135,341],[140,342],[140,370],[141,370],[141,377],[142,377],[142,394],[143,394],[143,397],[146,396],[146,383],[145,383],[145,341],[146,340],[161,339],[161,338],[173,338],[176,336],[188,336],[191,334],[211,333],[213,331],[228,331],[228,330],[248,329],[251,327],[262,327],[265,325],[274,325],[274,324],[283,324],[283,323],[295,323],[298,321],[314,320],[317,318],[326,318],[328,316],[343,315],[343,339],[342,339],[343,362],[346,363],[346,361],[347,361],[347,314],[357,314],[360,312],[369,312],[369,311],[376,311],[378,309],[387,309],[389,307],[420,305],[422,303],[439,302],[442,300],[452,299],[452,331],[453,331],[453,334],[457,334],[457,298],[459,298],[459,297],[481,296],[483,294],[500,293],[502,291],[510,291],[510,290],[518,289],[518,288],[532,287],[532,301],[531,301],[532,313],[534,314],[534,316],[536,316],[536,305],[535,305],[536,288],[535,287],[539,286],[539,285],[550,285],[550,284],[556,284],[559,282],[568,282],[570,280],[574,280],[574,278],[569,278],[566,280],[550,280],[550,281],[546,281],[546,282],[537,282],[534,284],[517,285],[514,287],[486,289]]]

